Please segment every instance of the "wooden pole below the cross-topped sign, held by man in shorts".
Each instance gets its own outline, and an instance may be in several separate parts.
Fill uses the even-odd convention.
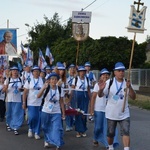
[[[132,66],[132,60],[133,60],[133,52],[134,52],[135,39],[136,39],[136,32],[134,33],[134,38],[133,38],[133,42],[132,42],[132,50],[131,50],[131,55],[130,55],[130,63],[129,63],[127,81],[130,80],[130,73],[131,73],[131,66]],[[122,112],[124,112],[125,106],[126,106],[127,91],[128,91],[128,89],[126,88],[125,97],[124,97],[124,103],[123,103],[123,107],[122,107]]]

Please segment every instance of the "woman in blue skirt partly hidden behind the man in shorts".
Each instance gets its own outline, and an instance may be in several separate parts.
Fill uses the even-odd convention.
[[[99,142],[104,144],[106,148],[108,148],[107,142],[107,120],[105,117],[105,108],[107,105],[107,97],[99,97],[99,83],[101,81],[106,82],[109,79],[110,72],[103,68],[100,71],[99,82],[95,84],[93,88],[92,98],[91,98],[91,107],[90,114],[94,115],[94,137],[93,137],[93,145],[98,146]],[[119,145],[118,142],[118,130],[116,130],[115,138],[113,146],[117,147]]]

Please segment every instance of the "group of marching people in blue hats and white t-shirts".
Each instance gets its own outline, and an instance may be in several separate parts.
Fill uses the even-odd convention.
[[[40,139],[42,128],[44,147],[52,144],[59,150],[64,144],[62,120],[65,120],[67,132],[75,129],[77,138],[86,137],[89,114],[94,117],[94,146],[103,143],[106,149],[114,150],[119,144],[116,128],[119,122],[124,150],[129,150],[128,103],[122,114],[119,107],[123,103],[125,89],[129,89],[128,95],[133,99],[135,92],[130,82],[124,80],[125,67],[121,62],[115,64],[115,77],[111,85],[110,72],[106,68],[100,71],[98,82],[90,68],[90,62],[78,68],[71,64],[68,71],[60,62],[42,70],[39,66],[24,65],[21,73],[17,66],[7,68],[0,76],[0,117],[3,121],[6,114],[7,131],[18,135],[26,114],[28,137]],[[117,74],[118,71],[122,74]],[[80,113],[66,114],[68,109],[79,110]]]

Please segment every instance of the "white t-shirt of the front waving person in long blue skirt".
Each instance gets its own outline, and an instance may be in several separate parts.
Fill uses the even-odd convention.
[[[61,95],[59,94],[58,87],[56,90],[50,89],[45,97],[45,102],[42,111],[49,114],[61,113],[59,100],[60,97],[63,97],[63,95],[64,93],[62,88]]]

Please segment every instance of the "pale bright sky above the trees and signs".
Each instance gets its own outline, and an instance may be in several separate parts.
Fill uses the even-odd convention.
[[[138,1],[138,0],[135,0]],[[51,19],[55,12],[66,23],[72,16],[72,11],[84,9],[94,0],[4,0],[0,5],[0,28],[19,28],[17,31],[18,49],[21,41],[27,42],[27,32],[30,27],[25,23],[34,26],[37,22],[44,22],[44,15]],[[126,36],[133,39],[134,33],[127,32],[129,24],[130,5],[134,0],[96,0],[84,11],[91,11],[91,23],[89,36],[99,39],[104,36]],[[150,0],[141,0],[147,6],[144,34],[137,33],[136,41],[142,43],[150,35]],[[137,6],[136,6],[137,8]],[[141,7],[140,7],[141,8]],[[49,39],[50,40],[50,39]]]

